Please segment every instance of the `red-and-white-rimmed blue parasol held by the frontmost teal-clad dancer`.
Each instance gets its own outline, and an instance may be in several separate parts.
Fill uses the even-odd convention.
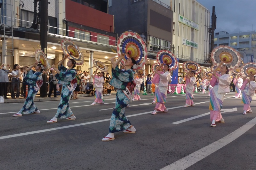
[[[138,64],[137,67],[133,66],[133,70],[143,68],[148,56],[145,40],[142,39],[139,34],[132,31],[122,33],[117,42],[117,54],[121,55],[123,53],[126,54],[121,61],[123,64],[128,58],[133,58]]]

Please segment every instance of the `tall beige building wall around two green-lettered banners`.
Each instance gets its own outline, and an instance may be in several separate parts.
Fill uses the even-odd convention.
[[[173,11],[172,52],[179,58],[203,62],[209,51],[209,33],[211,12],[195,0],[170,1]],[[198,30],[179,22],[179,14],[198,24]],[[196,42],[198,48],[183,45],[183,40]],[[173,48],[174,45],[174,48]],[[180,56],[180,55],[183,55]],[[198,60],[199,59],[199,60]]]

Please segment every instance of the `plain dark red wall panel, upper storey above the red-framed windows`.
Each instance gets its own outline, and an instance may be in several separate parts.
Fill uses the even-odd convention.
[[[113,32],[113,15],[90,8],[88,6],[66,0],[66,18],[68,21]]]

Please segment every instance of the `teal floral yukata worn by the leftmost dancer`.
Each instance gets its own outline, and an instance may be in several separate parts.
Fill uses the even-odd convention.
[[[23,79],[27,82],[27,85],[29,85],[28,89],[28,96],[24,102],[23,107],[20,109],[18,113],[21,113],[22,115],[30,114],[38,110],[36,108],[36,105],[34,104],[34,99],[36,97],[36,93],[40,89],[40,87],[43,85],[43,78],[40,76],[42,72],[36,72],[33,70],[30,70],[26,77]]]

